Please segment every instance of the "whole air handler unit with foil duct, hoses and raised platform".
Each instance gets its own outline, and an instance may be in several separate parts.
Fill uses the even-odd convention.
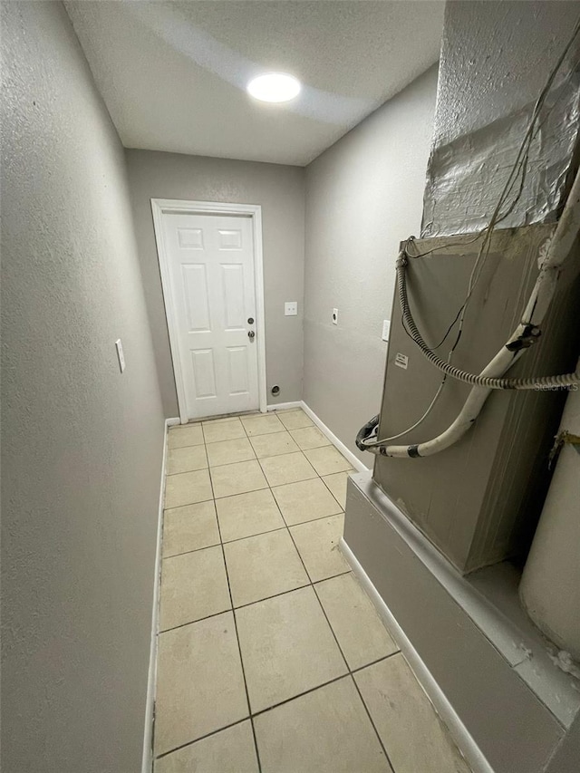
[[[567,773],[580,736],[580,456],[566,442],[580,429],[578,6],[525,5],[447,4],[422,232],[401,244],[366,428],[374,467],[349,481],[343,549],[472,767]],[[541,323],[510,339],[528,311]],[[481,381],[530,388],[487,394],[449,372],[510,352],[517,363]],[[575,545],[562,566],[556,544]]]

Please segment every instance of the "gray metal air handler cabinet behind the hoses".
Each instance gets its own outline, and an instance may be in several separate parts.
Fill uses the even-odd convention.
[[[480,372],[507,340],[536,279],[540,247],[553,226],[499,230],[469,303],[453,362]],[[411,308],[421,332],[436,345],[465,298],[479,242],[473,235],[417,241],[412,260]],[[509,375],[574,370],[579,342],[572,313],[580,297],[576,261],[568,261],[542,341]],[[441,373],[404,332],[395,300],[382,396],[381,437],[411,426],[437,390]],[[445,358],[454,336],[438,350]],[[449,343],[450,342],[450,343]],[[409,356],[407,370],[395,365]],[[448,379],[427,420],[397,443],[429,440],[457,416],[469,385]],[[376,460],[374,479],[460,571],[467,572],[517,553],[525,542],[522,519],[535,526],[547,485],[546,450],[556,431],[565,393],[501,391],[492,394],[474,428],[457,443],[426,459]]]

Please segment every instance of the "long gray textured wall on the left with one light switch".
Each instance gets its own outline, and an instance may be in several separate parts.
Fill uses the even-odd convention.
[[[129,773],[163,413],[123,150],[63,6],[2,15],[2,769]]]

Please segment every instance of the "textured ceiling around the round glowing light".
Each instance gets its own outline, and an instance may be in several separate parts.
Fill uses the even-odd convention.
[[[128,148],[304,165],[439,58],[440,2],[65,3]],[[291,72],[285,105],[248,80]]]

